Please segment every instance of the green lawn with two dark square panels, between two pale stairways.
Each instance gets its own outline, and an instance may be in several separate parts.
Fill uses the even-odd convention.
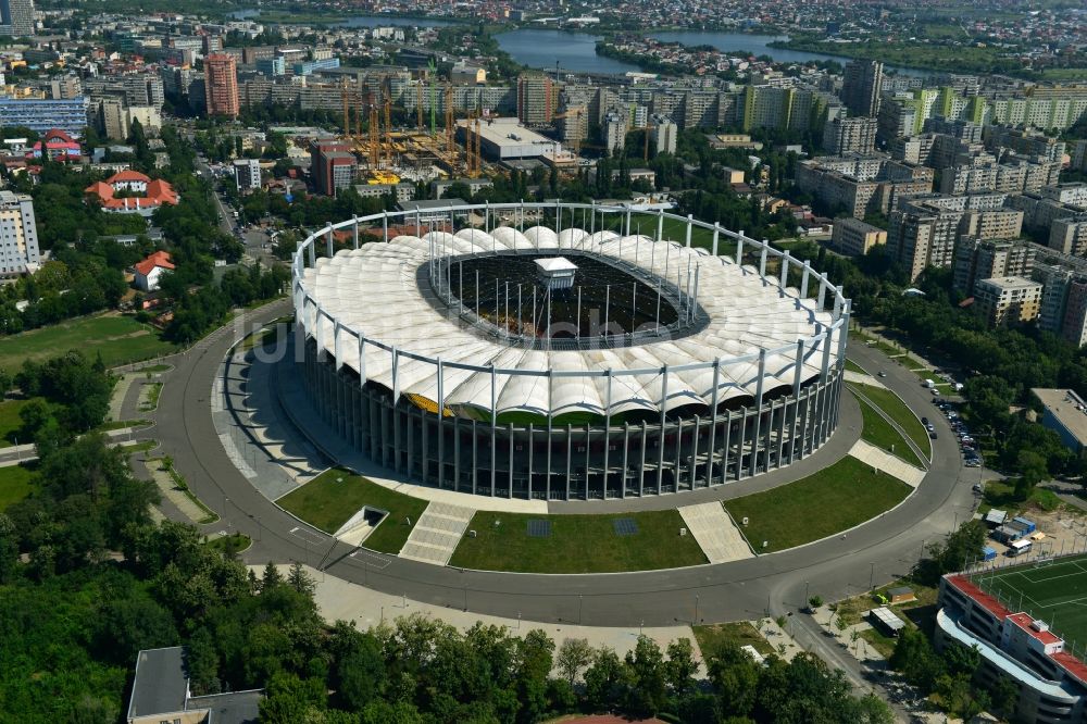
[[[620,536],[615,519],[633,519],[638,532]],[[528,521],[551,523],[551,535],[528,535]],[[496,521],[499,525],[496,525]],[[521,573],[651,571],[705,563],[692,536],[680,536],[676,510],[613,515],[535,515],[480,511],[468,524],[450,565]]]

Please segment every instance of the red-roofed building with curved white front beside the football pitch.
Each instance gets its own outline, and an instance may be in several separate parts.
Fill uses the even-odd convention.
[[[1014,683],[1019,687],[1016,721],[1084,721],[1087,665],[1065,650],[1064,639],[1045,621],[1009,609],[964,574],[944,576],[938,602],[937,647],[975,648],[983,684],[991,686],[1001,678]]]

